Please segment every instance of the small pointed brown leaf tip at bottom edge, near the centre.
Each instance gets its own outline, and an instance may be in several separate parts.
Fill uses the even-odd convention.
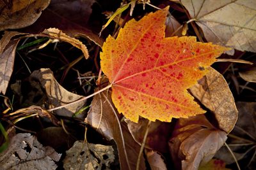
[[[146,156],[151,170],[167,170],[166,164],[159,153],[153,150],[146,150]]]

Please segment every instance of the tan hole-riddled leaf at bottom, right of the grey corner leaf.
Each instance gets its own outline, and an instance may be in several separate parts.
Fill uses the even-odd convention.
[[[109,169],[110,164],[115,160],[112,146],[83,141],[76,141],[66,153],[67,156],[63,160],[64,169],[101,170],[103,166]]]

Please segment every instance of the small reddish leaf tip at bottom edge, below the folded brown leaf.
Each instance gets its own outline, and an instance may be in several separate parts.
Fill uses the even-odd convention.
[[[212,159],[204,166],[200,166],[198,170],[231,170],[225,168],[226,164],[223,160]]]

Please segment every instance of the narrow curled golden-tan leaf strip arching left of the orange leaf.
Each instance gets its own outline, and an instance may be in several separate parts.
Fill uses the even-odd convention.
[[[76,46],[76,48],[79,48],[80,50],[82,50],[85,59],[89,58],[89,53],[88,53],[86,46],[78,39],[71,38],[67,34],[63,33],[61,30],[56,29],[56,28],[49,28],[49,29],[45,29],[45,31],[42,32],[42,34],[45,34],[52,39],[59,39],[61,41],[70,43],[73,46]]]

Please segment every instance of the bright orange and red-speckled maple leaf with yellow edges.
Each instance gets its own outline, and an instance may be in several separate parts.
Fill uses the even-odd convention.
[[[112,100],[126,118],[170,122],[204,113],[186,89],[207,73],[228,48],[196,42],[196,37],[165,38],[168,8],[125,24],[108,36],[100,53],[102,71],[112,84]]]

